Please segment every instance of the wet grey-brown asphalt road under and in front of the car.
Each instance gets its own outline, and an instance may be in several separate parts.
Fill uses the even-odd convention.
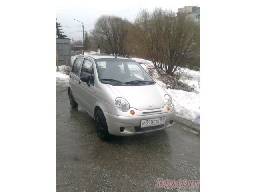
[[[94,119],[72,109],[68,81],[56,80],[56,191],[178,191],[156,188],[164,180],[200,180],[200,137],[172,128],[135,136],[96,133]]]

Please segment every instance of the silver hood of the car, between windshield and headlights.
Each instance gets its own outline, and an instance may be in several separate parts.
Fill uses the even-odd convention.
[[[150,110],[163,108],[165,90],[158,84],[142,86],[113,86],[108,87],[116,95],[126,99],[130,107],[137,110]]]

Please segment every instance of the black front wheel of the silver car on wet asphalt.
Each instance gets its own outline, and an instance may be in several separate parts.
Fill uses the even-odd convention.
[[[108,132],[108,125],[103,112],[100,110],[98,110],[95,114],[95,123],[96,123],[96,131],[99,138],[104,141],[108,140],[110,138],[110,134]]]

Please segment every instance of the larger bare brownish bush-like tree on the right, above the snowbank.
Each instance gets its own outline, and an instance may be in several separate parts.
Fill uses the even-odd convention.
[[[136,38],[144,56],[155,68],[173,75],[182,60],[198,46],[199,32],[192,18],[176,16],[172,10],[156,8],[151,13],[142,10],[134,22]]]

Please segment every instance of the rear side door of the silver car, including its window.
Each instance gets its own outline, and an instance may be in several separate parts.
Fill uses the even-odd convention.
[[[82,60],[83,58],[76,58],[74,65],[72,66],[70,77],[69,77],[69,84],[72,90],[72,94],[74,99],[78,104],[81,103],[81,99],[78,95],[79,88],[80,88],[80,71],[82,66]]]

